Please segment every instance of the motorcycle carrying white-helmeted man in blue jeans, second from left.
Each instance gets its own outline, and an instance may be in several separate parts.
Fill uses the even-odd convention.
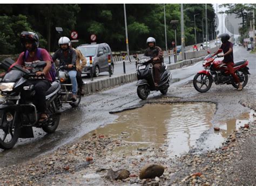
[[[57,79],[60,81],[60,95],[62,103],[68,103],[72,107],[77,107],[80,104],[82,95],[80,88],[77,89],[77,99],[72,100],[72,84],[68,74],[68,66],[60,66],[57,69]]]

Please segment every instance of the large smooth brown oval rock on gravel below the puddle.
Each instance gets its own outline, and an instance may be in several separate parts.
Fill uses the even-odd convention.
[[[140,170],[140,180],[160,177],[164,173],[164,167],[159,164],[149,164]]]

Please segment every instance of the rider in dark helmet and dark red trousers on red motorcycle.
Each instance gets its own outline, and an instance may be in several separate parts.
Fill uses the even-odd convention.
[[[233,44],[229,42],[228,40],[230,39],[230,35],[227,33],[223,33],[222,35],[219,36],[221,38],[221,46],[220,49],[223,50],[223,55],[219,55],[219,57],[224,57],[223,63],[227,65],[228,72],[232,75],[234,78],[235,83],[238,84],[238,91],[242,90],[242,84],[237,76],[237,74],[234,72],[234,57],[233,57]],[[218,52],[214,53],[214,56],[218,54]]]

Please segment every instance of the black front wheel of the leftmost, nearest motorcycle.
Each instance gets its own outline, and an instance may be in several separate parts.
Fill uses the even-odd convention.
[[[13,120],[16,117],[15,123],[12,123],[13,121],[7,121],[11,118],[10,114],[14,117]],[[19,135],[21,134],[21,127],[19,126],[21,120],[12,112],[5,112],[2,120],[3,124],[0,126],[0,148],[11,149],[15,146]]]

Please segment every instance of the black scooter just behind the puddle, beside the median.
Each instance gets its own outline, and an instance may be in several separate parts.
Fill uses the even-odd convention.
[[[154,86],[153,65],[151,61],[151,57],[143,56],[139,59],[137,66],[137,94],[142,100],[145,100],[149,96],[150,91],[160,91],[162,94],[166,94],[170,86],[169,81],[172,74],[167,70],[165,64],[161,66],[159,86]]]

